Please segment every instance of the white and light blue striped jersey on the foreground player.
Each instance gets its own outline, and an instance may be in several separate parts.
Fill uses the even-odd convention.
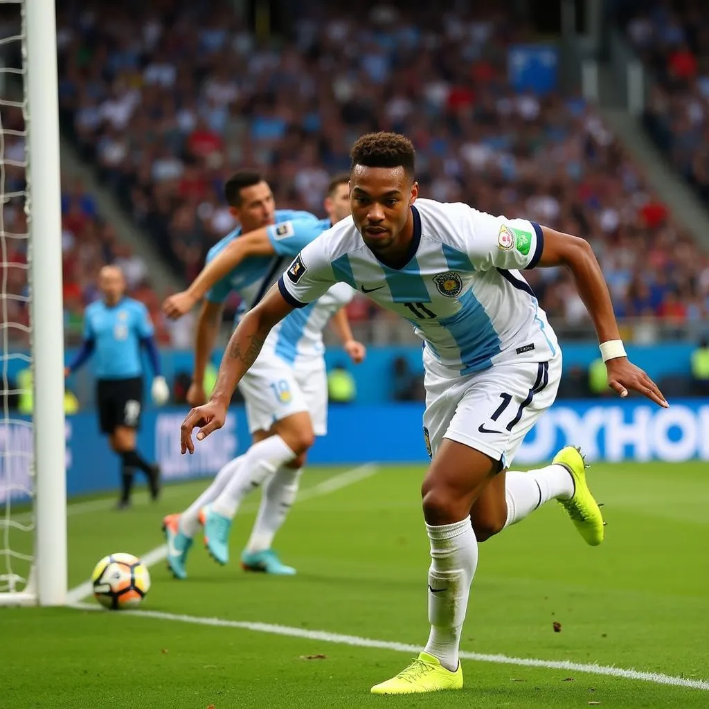
[[[381,263],[350,217],[301,251],[279,279],[282,296],[298,308],[347,283],[410,320],[425,351],[452,373],[551,359],[556,335],[518,270],[539,262],[540,225],[430,199],[411,210],[403,267]]]

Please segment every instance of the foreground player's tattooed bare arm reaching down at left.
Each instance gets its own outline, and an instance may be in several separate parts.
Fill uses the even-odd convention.
[[[209,401],[203,406],[193,408],[182,422],[180,440],[183,454],[186,451],[194,453],[192,431],[195,428],[200,428],[197,440],[203,440],[224,425],[236,385],[256,361],[274,325],[293,309],[281,296],[278,287],[274,286],[264,299],[241,319],[224,351]]]

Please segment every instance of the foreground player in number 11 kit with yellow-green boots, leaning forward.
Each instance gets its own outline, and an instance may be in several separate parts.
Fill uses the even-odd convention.
[[[519,269],[571,270],[601,342],[608,384],[668,406],[631,364],[620,340],[601,268],[586,241],[524,219],[465,204],[418,199],[411,142],[374,133],[352,149],[352,218],[313,241],[233,333],[206,405],[182,425],[203,440],[225,420],[237,382],[269,330],[293,308],[344,281],[413,323],[424,341],[424,433],[432,461],[422,486],[430,540],[430,636],[411,665],[372,687],[407,694],[463,686],[459,642],[478,542],[556,498],[590,545],[603,541],[603,518],[586,484],[584,460],[566,447],[554,462],[508,469],[525,433],[554,401],[562,359]]]

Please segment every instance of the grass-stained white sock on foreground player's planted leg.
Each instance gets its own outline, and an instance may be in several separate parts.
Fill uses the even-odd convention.
[[[425,652],[455,671],[470,585],[478,565],[478,541],[470,518],[452,525],[426,525],[431,542],[428,569],[428,620]]]

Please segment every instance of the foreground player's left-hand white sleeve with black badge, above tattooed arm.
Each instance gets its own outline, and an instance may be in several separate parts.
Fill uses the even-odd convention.
[[[279,278],[281,296],[294,308],[316,301],[337,283],[326,243],[324,239],[309,243]]]

